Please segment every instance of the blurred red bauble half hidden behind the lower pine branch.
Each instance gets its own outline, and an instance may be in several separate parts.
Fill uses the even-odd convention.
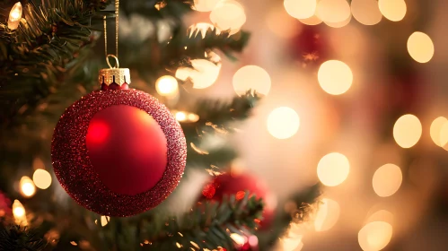
[[[246,195],[246,191],[250,192],[250,195],[256,195],[257,198],[262,198],[266,204],[268,198],[268,188],[257,177],[250,176],[249,174],[233,174],[224,173],[204,186],[202,195],[206,199],[221,201],[224,195],[235,195],[237,200],[242,200]],[[263,220],[259,221],[261,229],[268,228],[272,221],[274,211],[272,208],[265,206],[263,211]]]

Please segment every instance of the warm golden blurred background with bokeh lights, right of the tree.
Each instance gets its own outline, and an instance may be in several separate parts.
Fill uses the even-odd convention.
[[[196,2],[204,13],[190,22],[216,22],[218,1]],[[325,185],[315,220],[291,229],[284,250],[445,250],[448,3],[241,4],[223,14],[252,32],[241,62],[196,93],[266,95],[234,137],[242,166],[280,198]]]

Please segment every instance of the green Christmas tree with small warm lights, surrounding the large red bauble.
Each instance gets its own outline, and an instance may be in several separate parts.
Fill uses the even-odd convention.
[[[215,82],[219,55],[237,60],[250,34],[240,27],[186,27],[182,18],[200,8],[198,3],[121,2],[0,4],[2,20],[7,20],[0,24],[0,249],[274,248],[291,224],[300,224],[316,208],[319,186],[291,196],[291,210],[285,211],[285,202],[279,202],[277,210],[268,212],[268,195],[257,188],[258,179],[236,174],[234,146],[210,145],[236,133],[235,126],[250,117],[261,95],[250,89],[232,100],[189,95],[192,87]],[[115,38],[112,23],[117,24]],[[97,214],[76,204],[50,168],[57,120],[76,100],[101,88],[98,72],[107,68],[103,52],[111,51],[114,40],[117,64],[131,70],[129,86],[153,94],[171,109],[188,147],[185,174],[174,193],[154,209],[128,218]],[[204,178],[224,176],[224,181]]]

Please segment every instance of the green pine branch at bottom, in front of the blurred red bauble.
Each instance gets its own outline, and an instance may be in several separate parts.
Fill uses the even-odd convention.
[[[257,228],[263,210],[263,203],[255,196],[246,196],[237,201],[233,196],[224,198],[223,202],[198,203],[191,212],[182,217],[161,217],[157,215],[151,223],[144,223],[141,237],[147,241],[145,250],[173,250],[224,247],[233,250],[230,233],[240,229]]]

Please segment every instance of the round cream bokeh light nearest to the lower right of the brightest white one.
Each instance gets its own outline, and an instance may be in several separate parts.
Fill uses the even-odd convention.
[[[325,186],[338,186],[347,179],[350,163],[346,156],[332,152],[322,157],[317,165],[317,176]]]

